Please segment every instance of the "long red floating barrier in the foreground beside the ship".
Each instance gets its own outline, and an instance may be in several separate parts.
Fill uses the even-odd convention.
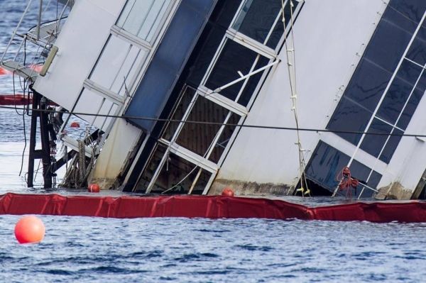
[[[0,214],[426,222],[426,203],[352,203],[308,208],[280,200],[230,196],[93,197],[8,193],[0,196]]]

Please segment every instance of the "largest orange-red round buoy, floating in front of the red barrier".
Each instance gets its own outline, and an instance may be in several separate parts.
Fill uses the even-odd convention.
[[[23,216],[15,226],[15,237],[20,244],[40,243],[45,234],[45,226],[40,218]]]

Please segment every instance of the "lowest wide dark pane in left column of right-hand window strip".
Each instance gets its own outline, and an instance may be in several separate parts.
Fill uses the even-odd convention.
[[[343,97],[332,118],[327,125],[327,129],[332,131],[365,131],[371,113],[353,101]],[[340,137],[356,145],[361,139],[361,134],[336,133]]]

